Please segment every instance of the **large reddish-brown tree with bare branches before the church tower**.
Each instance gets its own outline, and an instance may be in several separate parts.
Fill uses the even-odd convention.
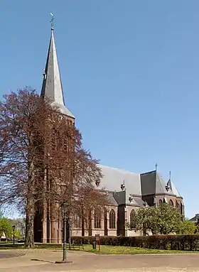
[[[102,173],[82,147],[80,131],[67,116],[32,89],[5,95],[0,102],[0,203],[26,213],[26,246],[34,246],[36,205],[50,205],[54,219],[62,202],[71,214],[103,209],[104,194],[95,190]]]

